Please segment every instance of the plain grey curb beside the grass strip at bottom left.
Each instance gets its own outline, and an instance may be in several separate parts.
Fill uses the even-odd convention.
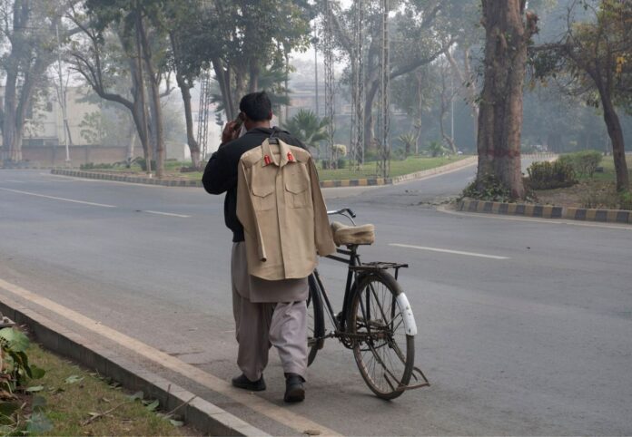
[[[145,397],[160,401],[166,411],[181,407],[178,413],[183,416],[184,422],[206,435],[269,435],[162,376],[129,363],[107,349],[91,345],[83,336],[4,296],[0,312],[18,325],[27,325],[36,341],[54,353],[109,376],[129,390],[142,391]]]

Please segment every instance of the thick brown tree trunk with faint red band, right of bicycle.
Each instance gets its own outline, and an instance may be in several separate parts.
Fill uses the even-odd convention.
[[[497,178],[514,199],[523,199],[520,165],[522,88],[527,45],[537,32],[537,16],[527,14],[525,0],[482,0],[485,26],[485,84],[480,98],[477,185]]]

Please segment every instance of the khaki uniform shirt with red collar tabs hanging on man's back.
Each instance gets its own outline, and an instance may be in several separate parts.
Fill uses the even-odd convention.
[[[279,139],[242,155],[237,217],[244,228],[248,272],[268,280],[308,277],[336,251],[311,155]]]

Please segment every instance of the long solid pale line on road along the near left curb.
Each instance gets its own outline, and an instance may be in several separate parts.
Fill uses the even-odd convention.
[[[221,393],[237,403],[242,403],[244,406],[254,410],[255,412],[261,413],[273,421],[279,422],[295,430],[297,434],[302,434],[305,430],[318,430],[321,435],[341,435],[338,432],[334,432],[330,428],[321,425],[320,423],[313,422],[307,417],[301,416],[301,414],[292,412],[291,409],[275,405],[270,401],[266,401],[262,397],[252,394],[251,392],[233,388],[231,384],[224,381],[222,378],[213,374],[208,374],[193,364],[184,363],[182,360],[179,360],[170,354],[166,354],[150,345],[146,345],[129,335],[124,335],[123,333],[116,331],[109,326],[103,325],[94,319],[86,317],[81,313],[65,306],[61,306],[44,296],[36,295],[21,286],[16,286],[15,284],[11,284],[10,282],[0,279],[0,288],[13,293],[15,296],[20,296],[29,302],[33,302],[38,306],[42,306],[48,311],[52,311],[58,316],[62,316],[75,324],[82,325],[84,328],[93,331],[98,335],[102,335],[104,338],[107,338],[118,345],[122,345],[126,349],[143,356],[145,359],[148,359],[155,364],[160,364],[177,374],[181,374],[197,384],[201,384],[214,392]]]

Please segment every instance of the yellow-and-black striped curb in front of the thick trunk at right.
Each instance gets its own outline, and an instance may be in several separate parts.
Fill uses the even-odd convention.
[[[565,218],[568,220],[597,221],[601,223],[632,224],[632,211],[620,209],[584,209],[464,199],[459,201],[457,210],[521,217]]]

